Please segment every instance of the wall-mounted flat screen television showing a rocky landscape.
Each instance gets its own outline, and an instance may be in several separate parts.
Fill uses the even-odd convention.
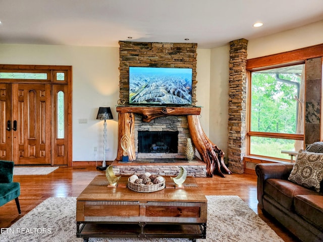
[[[129,67],[129,104],[191,105],[192,69]]]

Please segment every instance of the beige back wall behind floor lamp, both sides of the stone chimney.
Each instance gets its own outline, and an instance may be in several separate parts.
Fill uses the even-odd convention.
[[[210,49],[197,51],[197,100],[203,106],[201,124],[208,132]],[[117,156],[119,99],[119,48],[63,45],[0,44],[0,64],[67,65],[73,67],[73,161],[102,160],[103,121],[99,106],[110,106],[107,120],[106,160]],[[199,87],[201,89],[199,90]],[[206,93],[205,93],[206,92]],[[87,124],[79,124],[87,119]],[[97,152],[94,152],[97,147]]]

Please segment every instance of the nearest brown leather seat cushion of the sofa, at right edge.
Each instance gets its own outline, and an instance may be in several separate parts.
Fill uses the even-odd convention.
[[[294,206],[296,213],[323,230],[322,195],[297,195],[294,199]]]

